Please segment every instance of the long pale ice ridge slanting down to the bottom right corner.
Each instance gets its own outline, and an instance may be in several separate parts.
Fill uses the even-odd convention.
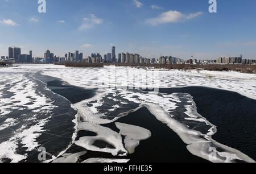
[[[183,140],[184,143],[188,144],[187,149],[193,155],[199,156],[203,159],[210,160],[210,155],[212,151],[209,151],[212,147],[216,149],[216,159],[210,160],[212,162],[220,163],[220,162],[236,162],[236,160],[243,160],[246,162],[255,161],[251,159],[249,156],[243,154],[242,152],[235,150],[234,148],[227,147],[223,144],[220,144],[211,138],[216,132],[214,126],[208,130],[208,134],[202,134],[200,131],[196,131],[193,129],[189,129],[183,123],[177,121],[174,118],[171,118],[169,114],[166,113],[161,107],[155,105],[154,103],[144,103],[144,106],[150,110],[150,112],[155,115],[155,117],[170,127],[173,131],[176,132],[177,135]],[[190,113],[192,114],[192,113]],[[203,119],[203,117],[201,118]],[[201,122],[200,119],[200,122]],[[198,121],[198,120],[196,120]],[[205,123],[211,125],[206,119]],[[214,130],[214,132],[213,132]],[[201,138],[201,137],[204,138]],[[217,150],[219,149],[219,151]]]

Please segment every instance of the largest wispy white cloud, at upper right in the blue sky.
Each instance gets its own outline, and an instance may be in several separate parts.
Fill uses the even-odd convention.
[[[197,13],[191,13],[186,15],[181,13],[180,11],[170,10],[160,14],[156,18],[147,19],[146,23],[151,24],[152,26],[156,26],[158,24],[163,24],[163,23],[182,22],[184,20],[194,19],[202,14],[203,14],[202,12],[197,12]]]

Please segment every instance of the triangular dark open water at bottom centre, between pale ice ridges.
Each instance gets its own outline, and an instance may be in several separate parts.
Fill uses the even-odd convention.
[[[158,121],[146,107],[119,118],[117,122],[140,126],[151,131],[152,136],[142,140],[135,149],[134,154],[129,154],[131,163],[205,163],[207,160],[190,154],[179,136],[167,125]],[[119,132],[114,123],[104,125]]]

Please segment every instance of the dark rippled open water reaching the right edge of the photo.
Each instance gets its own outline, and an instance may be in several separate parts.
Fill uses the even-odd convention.
[[[213,139],[256,160],[256,100],[204,87],[160,89],[160,92],[191,94],[197,112],[217,126]]]

